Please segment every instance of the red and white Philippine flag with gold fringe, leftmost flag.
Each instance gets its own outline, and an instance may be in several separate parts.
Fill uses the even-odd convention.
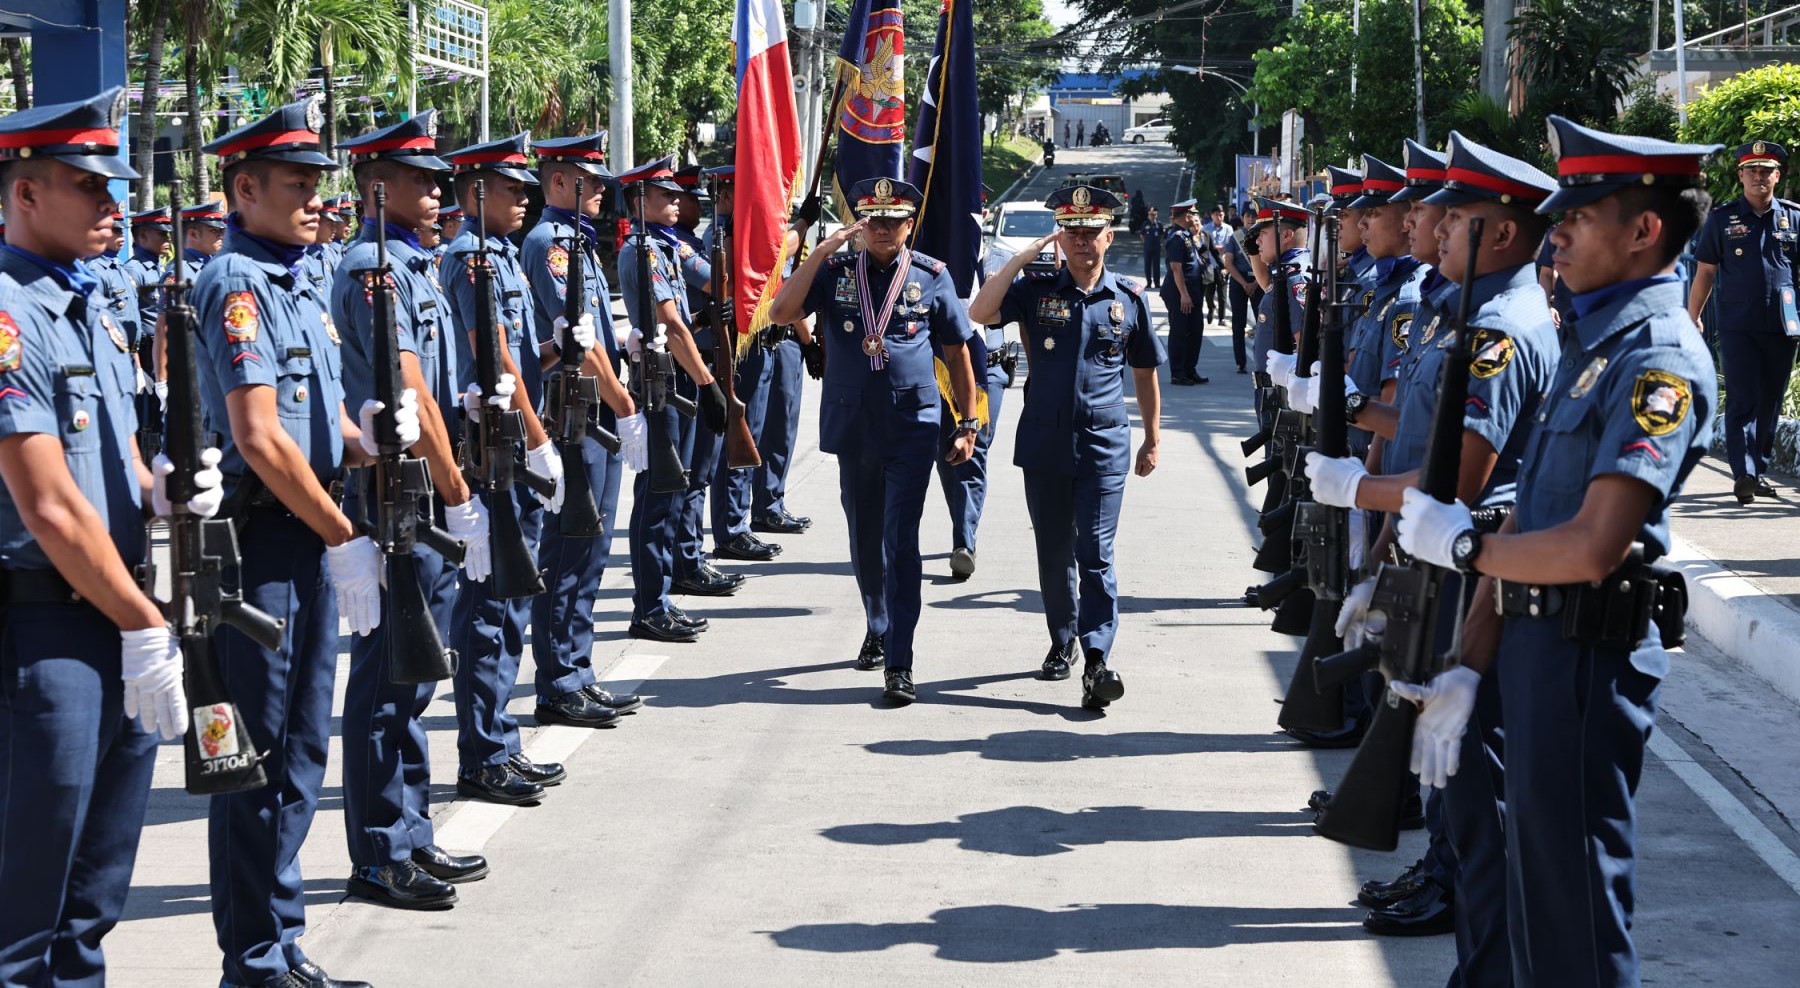
[[[779,0],[738,0],[738,176],[731,221],[738,344],[769,326],[787,266],[788,203],[799,184],[799,112]],[[742,319],[749,315],[749,319]]]

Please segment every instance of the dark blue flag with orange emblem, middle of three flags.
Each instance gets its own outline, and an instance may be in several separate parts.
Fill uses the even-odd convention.
[[[837,160],[832,185],[846,223],[844,194],[864,178],[900,178],[905,140],[905,34],[900,0],[855,0],[837,49]]]

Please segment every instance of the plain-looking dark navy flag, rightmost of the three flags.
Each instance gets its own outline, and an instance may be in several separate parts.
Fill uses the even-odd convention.
[[[981,248],[981,108],[976,99],[974,0],[943,0],[907,180],[923,193],[913,248],[950,268],[965,299]]]

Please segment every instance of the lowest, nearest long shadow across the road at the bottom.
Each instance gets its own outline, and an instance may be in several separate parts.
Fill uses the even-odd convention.
[[[855,954],[905,943],[936,948],[947,961],[1042,961],[1064,950],[1208,948],[1238,943],[1364,939],[1355,909],[1251,909],[1089,903],[1048,911],[1022,905],[940,909],[923,923],[814,923],[769,936],[788,950]]]

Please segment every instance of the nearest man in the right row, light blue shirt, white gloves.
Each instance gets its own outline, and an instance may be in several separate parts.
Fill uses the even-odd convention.
[[[1706,214],[1701,160],[1717,146],[1550,126],[1561,187],[1537,211],[1564,216],[1552,239],[1577,319],[1507,525],[1481,534],[1460,500],[1406,493],[1400,547],[1483,579],[1463,664],[1393,691],[1422,704],[1413,765],[1444,786],[1476,770],[1463,734],[1481,680],[1498,677],[1503,797],[1517,821],[1505,862],[1512,984],[1636,984],[1634,794],[1669,671],[1661,641],[1685,599],[1649,563],[1669,551],[1667,506],[1706,450],[1717,401],[1674,266]]]

